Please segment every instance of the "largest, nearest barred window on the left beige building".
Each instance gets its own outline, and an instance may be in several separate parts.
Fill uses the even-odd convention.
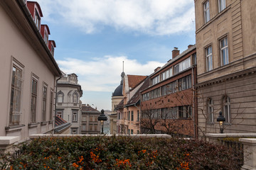
[[[18,124],[21,120],[21,86],[22,70],[16,65],[12,69],[11,78],[11,102],[10,102],[10,124]]]

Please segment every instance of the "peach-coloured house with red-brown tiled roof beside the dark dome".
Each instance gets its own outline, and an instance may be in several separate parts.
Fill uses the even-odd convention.
[[[138,134],[139,133],[139,89],[144,84],[146,76],[125,75],[122,94],[124,98],[116,107],[117,111],[117,133]],[[134,96],[137,95],[137,96]]]

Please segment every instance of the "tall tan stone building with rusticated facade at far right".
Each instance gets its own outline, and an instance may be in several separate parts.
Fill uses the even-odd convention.
[[[195,0],[198,132],[256,132],[256,1]]]

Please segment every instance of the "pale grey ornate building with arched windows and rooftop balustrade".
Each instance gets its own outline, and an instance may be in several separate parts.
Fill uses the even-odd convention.
[[[71,123],[69,134],[80,134],[82,89],[76,74],[63,74],[57,82],[55,115]]]

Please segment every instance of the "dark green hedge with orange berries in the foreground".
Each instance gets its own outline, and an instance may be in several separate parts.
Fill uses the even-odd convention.
[[[18,155],[18,156],[17,156]],[[44,137],[2,154],[1,169],[240,169],[240,153],[177,138]]]

